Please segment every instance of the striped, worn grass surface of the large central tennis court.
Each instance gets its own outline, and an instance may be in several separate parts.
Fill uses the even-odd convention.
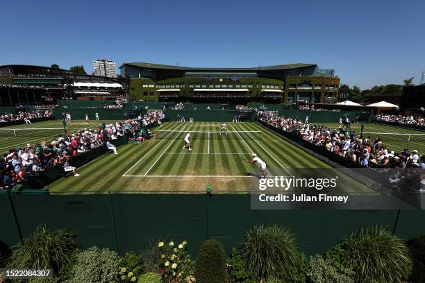
[[[220,123],[195,123],[190,130],[217,131]],[[189,130],[188,123],[170,122],[161,130]],[[183,149],[183,134],[177,139],[150,139],[142,144],[126,144],[118,155],[106,155],[78,169],[79,177],[62,178],[48,186],[52,192],[146,191],[202,193],[207,184],[215,192],[258,191],[257,164],[245,159],[251,152],[267,163],[276,175],[288,175],[286,169],[331,167],[305,151],[292,146],[256,123],[228,123],[228,130],[262,130],[262,139],[196,139],[193,150]],[[216,134],[217,135],[217,134]],[[235,135],[235,134],[233,134]],[[247,176],[253,173],[256,176]],[[344,175],[342,191],[371,190]],[[293,192],[293,191],[292,191]]]

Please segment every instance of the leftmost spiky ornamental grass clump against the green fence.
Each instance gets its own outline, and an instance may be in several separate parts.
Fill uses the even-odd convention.
[[[19,243],[12,252],[10,268],[53,268],[55,274],[60,266],[69,264],[76,252],[76,234],[63,229],[39,225],[31,237]]]

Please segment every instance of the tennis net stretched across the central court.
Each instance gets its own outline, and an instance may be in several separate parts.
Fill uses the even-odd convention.
[[[156,130],[157,139],[178,139],[185,137],[188,130]],[[260,130],[231,130],[231,131],[190,131],[191,139],[262,139],[263,132]]]

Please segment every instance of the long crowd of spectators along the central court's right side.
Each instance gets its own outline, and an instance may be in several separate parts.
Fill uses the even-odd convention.
[[[315,129],[310,123],[278,117],[276,114],[265,111],[258,112],[258,119],[363,166],[400,167],[402,169],[423,166],[425,168],[425,160],[421,162],[416,150],[410,152],[406,149],[403,153],[388,151],[380,137],[371,139],[358,136],[355,132],[345,135],[336,129],[325,126]],[[425,155],[422,155],[422,159],[424,158]]]

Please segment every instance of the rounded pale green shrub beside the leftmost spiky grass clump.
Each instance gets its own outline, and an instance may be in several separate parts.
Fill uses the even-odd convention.
[[[72,270],[72,283],[114,283],[119,282],[121,259],[117,252],[108,248],[88,248],[78,252]]]

